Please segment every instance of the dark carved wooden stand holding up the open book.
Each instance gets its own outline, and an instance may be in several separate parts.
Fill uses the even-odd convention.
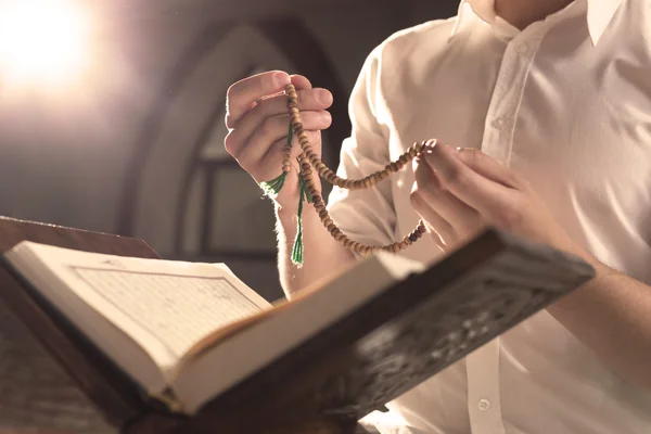
[[[141,240],[0,218],[0,253],[23,240],[157,257]],[[124,434],[348,434],[366,432],[357,424],[360,418],[592,276],[591,267],[576,258],[487,230],[218,396],[193,418],[171,416],[149,399],[5,265],[0,267],[0,310],[8,307],[18,319],[14,327],[26,326]],[[460,286],[472,288],[470,299],[460,299]],[[39,369],[29,362],[25,360],[28,370]],[[7,399],[1,392],[2,385],[0,423]]]

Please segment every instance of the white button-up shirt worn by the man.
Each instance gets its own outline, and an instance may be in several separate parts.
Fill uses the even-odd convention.
[[[458,17],[379,46],[349,108],[340,176],[430,138],[481,149],[523,174],[576,242],[651,284],[651,0],[576,0],[523,31],[490,0],[462,2]],[[334,189],[331,215],[352,238],[387,244],[418,222],[412,183],[407,168],[376,189]],[[405,255],[437,252],[423,238]],[[651,393],[547,311],[388,408],[419,433],[651,433]]]

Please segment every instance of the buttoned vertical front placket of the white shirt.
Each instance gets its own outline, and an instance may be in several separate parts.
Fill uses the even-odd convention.
[[[542,23],[540,23],[542,24]],[[518,110],[526,78],[546,30],[532,25],[507,46],[482,141],[482,152],[510,164]],[[505,434],[500,401],[500,339],[467,357],[468,411],[473,434]]]

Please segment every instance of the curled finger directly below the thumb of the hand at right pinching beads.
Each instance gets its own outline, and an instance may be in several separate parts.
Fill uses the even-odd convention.
[[[480,222],[476,209],[443,190],[436,174],[426,163],[417,159],[414,166],[417,189],[427,206],[447,220],[458,235],[472,232]]]

